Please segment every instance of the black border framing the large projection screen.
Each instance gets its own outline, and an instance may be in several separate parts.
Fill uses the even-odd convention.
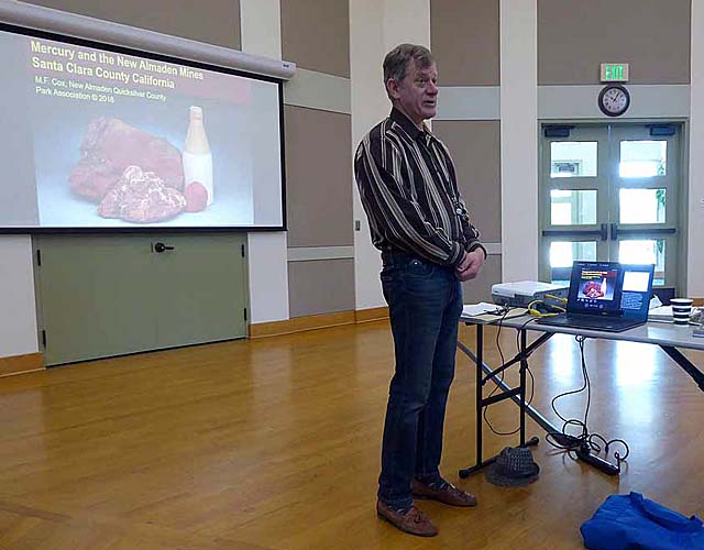
[[[88,38],[80,38],[77,36],[70,36],[67,34],[58,34],[50,31],[32,29],[28,26],[13,25],[10,23],[0,22],[0,31],[21,35],[33,36],[37,38],[52,40],[55,42],[63,42],[66,44],[73,44],[76,46],[90,47],[95,50],[103,50],[123,55],[132,55],[136,57],[143,57],[146,59],[154,59],[164,63],[173,63],[177,65],[184,65],[188,67],[212,70],[217,73],[223,73],[232,76],[240,76],[251,78],[254,80],[263,80],[266,82],[273,82],[278,88],[278,128],[279,128],[279,151],[280,151],[280,177],[282,177],[282,224],[280,226],[140,226],[135,224],[130,227],[85,227],[85,228],[67,228],[67,227],[33,227],[33,226],[16,226],[16,227],[3,227],[0,224],[0,234],[111,234],[111,233],[255,233],[255,232],[275,232],[287,231],[287,206],[286,206],[286,151],[285,151],[285,117],[284,117],[284,80],[267,75],[257,75],[245,70],[234,69],[231,67],[223,67],[221,65],[213,65],[211,63],[197,62],[193,59],[186,59],[184,57],[177,57],[173,55],[158,54],[154,52],[147,52],[144,50],[138,50],[133,47],[120,46],[116,44],[109,44],[105,42],[98,42]]]

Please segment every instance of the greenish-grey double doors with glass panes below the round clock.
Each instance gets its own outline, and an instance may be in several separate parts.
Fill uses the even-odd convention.
[[[572,262],[653,263],[676,287],[680,124],[543,124],[540,279],[569,284]]]

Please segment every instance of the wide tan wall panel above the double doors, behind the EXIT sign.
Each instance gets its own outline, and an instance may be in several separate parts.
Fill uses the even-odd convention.
[[[631,84],[689,84],[690,0],[538,0],[538,84],[598,84],[630,64]]]

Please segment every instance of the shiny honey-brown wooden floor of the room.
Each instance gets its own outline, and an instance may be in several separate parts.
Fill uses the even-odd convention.
[[[513,331],[502,341],[513,354]],[[0,549],[568,550],[582,548],[580,525],[613,493],[704,515],[704,394],[652,346],[587,342],[586,359],[591,430],[630,444],[622,476],[541,438],[534,485],[458,480],[474,460],[474,374],[459,356],[442,470],[480,506],[421,503],[435,539],[374,514],[393,370],[384,321],[1,378]],[[556,419],[551,396],[581,384],[576,344],[556,337],[531,365],[534,404]],[[572,397],[561,410],[580,417],[584,403]],[[516,410],[499,404],[490,419],[509,430]],[[530,424],[534,433],[542,436]],[[488,451],[516,441],[487,437]]]

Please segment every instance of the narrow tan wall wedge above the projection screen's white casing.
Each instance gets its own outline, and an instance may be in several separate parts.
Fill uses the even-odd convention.
[[[240,0],[28,0],[29,3],[240,50]]]

